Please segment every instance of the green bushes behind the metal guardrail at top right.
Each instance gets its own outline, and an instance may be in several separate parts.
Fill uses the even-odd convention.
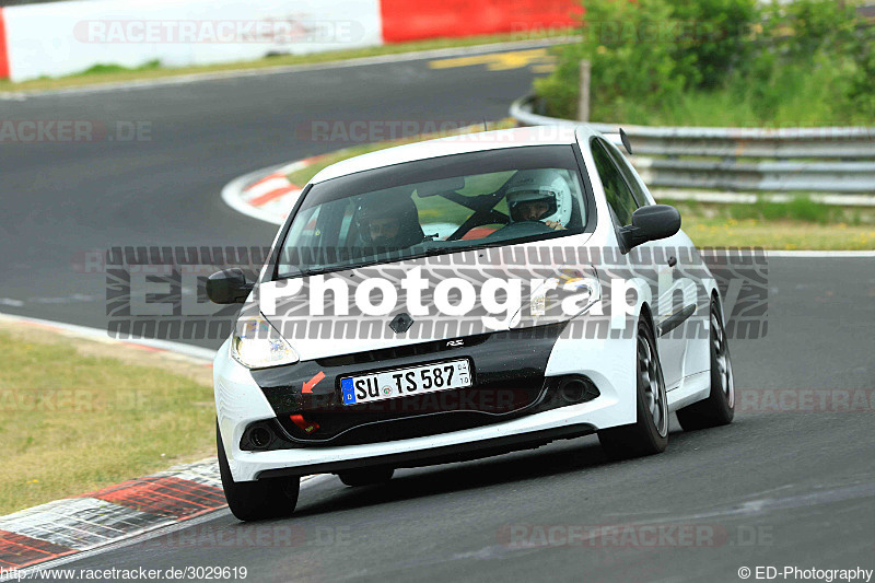
[[[796,0],[584,0],[582,40],[535,82],[549,115],[644,125],[807,126],[875,117],[875,27],[853,5]],[[849,2],[849,4],[851,4]]]

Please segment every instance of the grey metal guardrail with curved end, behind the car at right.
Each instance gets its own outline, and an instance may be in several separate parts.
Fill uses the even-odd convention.
[[[515,101],[511,105],[511,117],[523,126],[584,124],[537,115],[533,113],[534,103],[533,96]],[[603,133],[616,133],[619,128],[612,124],[585,125]],[[635,154],[631,158],[632,164],[649,186],[875,195],[875,127],[759,129],[623,125],[622,129]],[[678,156],[720,160],[679,160]],[[745,158],[778,161],[738,161]]]

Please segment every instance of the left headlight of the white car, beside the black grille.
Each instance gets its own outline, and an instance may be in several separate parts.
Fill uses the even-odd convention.
[[[231,357],[247,369],[294,364],[300,357],[261,315],[243,316],[231,336]]]

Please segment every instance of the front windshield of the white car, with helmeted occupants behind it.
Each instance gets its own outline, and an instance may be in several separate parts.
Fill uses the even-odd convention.
[[[570,145],[408,162],[317,183],[282,242],[278,278],[581,233]]]

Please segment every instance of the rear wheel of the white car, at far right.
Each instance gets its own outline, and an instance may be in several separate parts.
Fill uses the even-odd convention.
[[[732,423],[735,416],[735,378],[720,304],[711,301],[711,393],[708,398],[677,411],[684,431]]]

